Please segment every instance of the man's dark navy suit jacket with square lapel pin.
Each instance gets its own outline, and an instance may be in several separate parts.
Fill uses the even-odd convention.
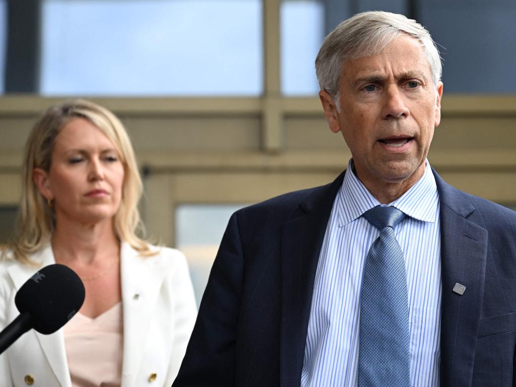
[[[317,261],[344,173],[233,214],[174,387],[299,386]],[[433,173],[441,385],[516,385],[516,213]],[[452,291],[456,282],[466,286],[462,296]]]

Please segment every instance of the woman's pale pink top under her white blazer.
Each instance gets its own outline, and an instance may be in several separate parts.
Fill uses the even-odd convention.
[[[73,387],[120,387],[122,303],[96,318],[77,313],[63,328]]]

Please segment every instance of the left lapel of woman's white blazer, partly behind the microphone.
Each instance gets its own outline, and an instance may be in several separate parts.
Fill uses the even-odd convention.
[[[55,263],[54,254],[50,244],[43,248],[41,252],[31,257],[31,259],[33,259],[34,262],[40,262],[41,265],[28,266],[18,264],[11,265],[7,269],[17,290],[19,290],[25,281],[32,277],[39,269]],[[43,353],[45,354],[45,357],[61,386],[70,387],[72,385],[72,381],[68,370],[65,337],[63,336],[62,329],[49,335],[41,334],[32,330],[25,334],[32,333],[36,335],[39,345],[41,346],[41,349],[43,350]]]

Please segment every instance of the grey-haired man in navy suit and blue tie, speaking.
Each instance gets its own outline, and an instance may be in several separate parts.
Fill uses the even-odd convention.
[[[174,387],[516,385],[516,214],[446,184],[426,159],[443,90],[428,31],[355,15],[325,39],[316,70],[348,168],[233,214]],[[380,207],[399,223],[378,228],[367,213]],[[382,254],[395,244],[406,270],[379,294],[400,287],[405,299],[376,297],[367,325],[364,267],[385,230]],[[407,326],[391,322],[402,313]],[[377,361],[362,356],[372,350]]]

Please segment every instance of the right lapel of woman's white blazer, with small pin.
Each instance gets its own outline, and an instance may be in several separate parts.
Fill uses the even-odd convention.
[[[150,258],[139,256],[126,243],[121,248],[123,307],[122,386],[134,387],[139,372],[151,316],[165,278],[162,267]]]

